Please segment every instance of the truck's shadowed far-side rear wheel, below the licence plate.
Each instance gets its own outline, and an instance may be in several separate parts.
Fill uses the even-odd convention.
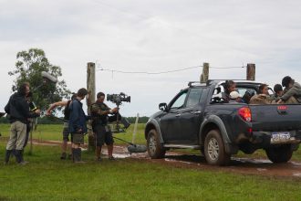
[[[291,149],[290,144],[280,145],[280,146],[271,146],[265,150],[265,153],[275,164],[286,163],[288,162],[293,155],[293,150]]]

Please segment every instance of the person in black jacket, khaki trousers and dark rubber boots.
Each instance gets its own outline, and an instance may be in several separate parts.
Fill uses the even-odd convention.
[[[36,118],[40,110],[30,112],[26,100],[29,94],[29,83],[21,84],[17,92],[13,94],[5,106],[5,112],[9,114],[11,133],[6,145],[5,164],[8,164],[10,154],[16,148],[16,164],[26,164],[23,160],[23,148],[26,141],[26,123],[28,118]]]

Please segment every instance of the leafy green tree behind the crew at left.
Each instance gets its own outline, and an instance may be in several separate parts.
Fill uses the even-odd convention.
[[[41,72],[46,71],[56,78],[62,76],[60,67],[50,64],[46,58],[43,49],[30,48],[28,51],[20,51],[16,54],[16,69],[9,71],[9,76],[16,76],[12,87],[13,91],[17,90],[23,82],[29,82],[31,91],[33,92],[33,100],[36,106],[42,111],[46,110],[51,102],[69,98],[70,90],[67,90],[66,82],[58,80],[57,84],[43,83],[44,79]]]

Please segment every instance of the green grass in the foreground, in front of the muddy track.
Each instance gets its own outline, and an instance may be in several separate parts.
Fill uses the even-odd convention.
[[[0,143],[0,150],[5,143]],[[0,200],[299,200],[300,180],[234,175],[119,159],[57,160],[59,147],[35,146],[30,164],[0,164]],[[0,152],[0,155],[3,155]]]

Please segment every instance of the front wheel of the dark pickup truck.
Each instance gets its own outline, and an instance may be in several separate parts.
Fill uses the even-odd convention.
[[[158,132],[154,129],[148,133],[147,148],[152,159],[163,158],[165,155],[165,149],[160,143]]]

